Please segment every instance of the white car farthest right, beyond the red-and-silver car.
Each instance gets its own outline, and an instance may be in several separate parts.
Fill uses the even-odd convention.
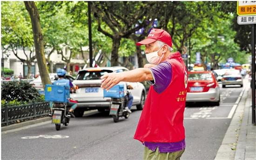
[[[227,85],[240,85],[243,87],[243,76],[237,69],[229,69],[223,75],[222,87],[225,88]]]

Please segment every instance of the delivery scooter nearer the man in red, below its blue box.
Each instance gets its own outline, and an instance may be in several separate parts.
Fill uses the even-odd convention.
[[[125,119],[129,118],[130,113],[125,109],[127,102],[126,96],[111,98],[109,115],[112,115],[115,123],[119,121],[119,117],[124,117]]]

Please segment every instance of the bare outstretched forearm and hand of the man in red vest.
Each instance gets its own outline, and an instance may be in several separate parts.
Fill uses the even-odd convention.
[[[121,73],[108,73],[101,76],[101,80],[101,88],[108,90],[121,81],[142,82],[145,80],[153,80],[153,76],[148,68],[137,68]]]

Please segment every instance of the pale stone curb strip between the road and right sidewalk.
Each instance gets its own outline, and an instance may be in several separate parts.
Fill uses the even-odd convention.
[[[244,85],[243,91],[241,93],[241,99],[238,102],[236,112],[233,115],[233,118],[230,121],[229,127],[225,136],[222,140],[222,144],[218,149],[215,160],[234,160],[236,154],[236,145],[238,142],[238,136],[241,127],[242,120],[245,113],[245,103],[248,99],[248,85]]]

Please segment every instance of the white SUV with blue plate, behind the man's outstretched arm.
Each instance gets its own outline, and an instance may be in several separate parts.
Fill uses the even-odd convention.
[[[77,86],[76,93],[70,95],[78,101],[77,108],[74,110],[76,117],[83,116],[84,111],[98,109],[98,111],[109,110],[110,98],[103,98],[103,89],[101,88],[101,76],[112,72],[126,72],[125,67],[88,67],[80,70],[73,81]],[[126,83],[124,83],[126,84]],[[138,110],[142,110],[146,95],[145,87],[139,82],[129,82],[134,89],[131,89]]]

